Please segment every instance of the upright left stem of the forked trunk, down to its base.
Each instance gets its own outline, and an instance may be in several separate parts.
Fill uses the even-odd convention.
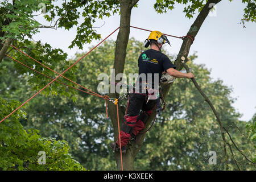
[[[114,70],[115,73],[112,77],[115,80],[115,76],[118,73],[123,73],[123,69],[125,68],[125,57],[126,57],[126,48],[129,41],[130,35],[130,20],[131,20],[131,10],[133,9],[134,5],[139,0],[120,0],[120,28],[117,35],[117,41],[115,42],[115,57],[114,57]],[[112,80],[112,81],[114,81]],[[118,80],[119,82],[119,80]],[[118,98],[118,93],[111,93],[109,94],[110,98]],[[109,103],[109,115],[112,120],[112,125],[114,129],[114,139],[117,140],[118,138],[118,123],[117,123],[117,109],[116,106],[112,103]],[[119,126],[122,126],[122,118],[125,112],[121,109],[119,110]],[[117,168],[121,169],[121,158],[120,153],[115,153],[115,160],[117,162]],[[130,154],[128,151],[125,155],[122,155],[123,161],[123,170],[133,170],[134,167],[134,156]]]

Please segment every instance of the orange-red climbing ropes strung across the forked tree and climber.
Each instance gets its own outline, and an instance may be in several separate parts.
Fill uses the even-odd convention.
[[[139,30],[144,30],[144,31],[149,31],[149,32],[151,32],[151,30],[146,30],[146,29],[144,29],[144,28],[139,28],[139,27],[134,27],[134,26],[130,26],[130,27],[132,27],[132,28],[137,28],[137,29],[139,29]],[[13,59],[14,61],[16,61],[16,63],[19,63],[19,64],[23,65],[24,67],[26,67],[26,68],[28,68],[28,69],[31,69],[32,71],[34,71],[34,72],[36,72],[36,73],[39,73],[40,75],[42,75],[42,76],[44,76],[44,77],[47,77],[47,78],[51,79],[52,81],[49,82],[46,86],[44,86],[42,89],[40,89],[37,93],[35,93],[35,94],[34,94],[32,97],[30,97],[27,101],[23,102],[22,105],[20,105],[19,107],[17,107],[14,111],[12,111],[10,114],[8,114],[5,118],[3,118],[3,119],[0,121],[0,123],[3,122],[3,121],[5,121],[5,119],[9,118],[10,115],[12,115],[13,113],[15,113],[15,111],[17,111],[18,109],[20,109],[20,107],[22,107],[23,105],[25,105],[25,104],[26,104],[28,101],[30,101],[32,98],[34,98],[35,96],[37,96],[40,92],[42,92],[44,89],[46,89],[46,88],[47,88],[49,85],[51,85],[52,82],[54,82],[54,81],[59,82],[59,84],[68,86],[69,88],[73,88],[73,89],[79,90],[79,91],[81,91],[81,92],[88,93],[88,94],[91,94],[91,95],[93,95],[93,96],[97,96],[97,97],[100,97],[100,98],[104,99],[104,100],[105,100],[105,106],[106,106],[106,115],[107,115],[107,118],[108,118],[108,119],[109,119],[109,115],[108,115],[108,101],[113,102],[114,105],[117,105],[117,123],[118,123],[118,133],[119,133],[119,136],[118,136],[118,137],[119,137],[119,147],[120,147],[120,156],[121,156],[121,169],[122,169],[122,171],[123,171],[122,147],[121,147],[121,136],[120,136],[120,125],[119,125],[119,113],[118,113],[118,101],[121,100],[121,97],[123,97],[123,96],[121,96],[121,97],[119,97],[119,98],[110,98],[109,96],[101,96],[100,94],[95,93],[95,92],[93,92],[92,90],[89,90],[89,89],[85,88],[84,86],[82,86],[82,85],[80,85],[80,84],[77,84],[75,81],[72,81],[72,80],[70,80],[69,78],[63,76],[63,74],[64,74],[65,72],[67,72],[70,68],[72,68],[75,64],[77,64],[80,60],[82,60],[85,56],[87,56],[87,55],[88,55],[90,52],[92,52],[95,48],[97,48],[102,42],[104,42],[106,39],[108,39],[109,36],[111,36],[112,34],[114,34],[114,32],[117,31],[118,29],[119,29],[119,27],[116,28],[111,34],[109,34],[109,35],[108,35],[105,39],[103,39],[100,43],[98,43],[96,46],[94,46],[92,49],[90,49],[89,52],[87,52],[87,53],[86,53],[84,56],[82,56],[79,60],[77,60],[75,63],[73,63],[69,68],[65,69],[65,71],[62,72],[62,73],[57,73],[56,71],[53,71],[51,68],[49,68],[49,67],[47,67],[46,65],[40,63],[39,61],[35,60],[34,58],[32,58],[31,56],[27,55],[26,53],[24,53],[24,52],[21,51],[20,49],[16,48],[16,47],[13,46],[13,45],[10,45],[11,47],[15,48],[17,51],[23,53],[23,54],[26,55],[27,57],[30,57],[30,59],[34,60],[36,63],[42,65],[43,67],[49,69],[50,71],[52,71],[52,72],[54,72],[54,73],[56,73],[58,76],[55,77],[55,78],[52,78],[52,77],[49,77],[49,76],[47,76],[47,75],[44,75],[42,72],[39,72],[39,71],[36,71],[36,70],[33,69],[33,68],[30,68],[30,67],[28,67],[27,65],[25,65],[24,63],[21,63],[20,61],[18,61],[18,60],[16,60],[16,59],[14,59],[13,57],[11,57],[11,56],[9,56],[9,55],[6,54],[7,57],[9,57],[10,59]],[[174,37],[174,38],[179,38],[179,39],[182,39],[182,40],[184,40],[185,38],[189,38],[189,39],[191,39],[192,44],[193,44],[193,41],[195,40],[195,37],[192,36],[192,35],[185,35],[185,36],[181,36],[181,37],[179,37],[179,36],[174,36],[174,35],[168,35],[168,34],[164,34],[164,35],[171,36],[171,37]],[[65,84],[64,82],[61,82],[61,81],[57,80],[57,78],[59,78],[59,77],[65,78],[66,80],[72,82],[73,84],[75,84],[75,85],[77,85],[77,86],[80,86],[81,88],[87,90],[88,92],[86,92],[85,90],[81,90],[81,89],[79,89],[79,88],[75,88],[74,86]],[[163,100],[163,102],[164,102],[163,97],[162,97],[162,100]],[[164,108],[165,108],[165,102],[164,102]],[[164,108],[163,108],[163,109],[164,109]],[[163,109],[162,109],[162,110],[163,110]],[[155,115],[155,119],[156,119],[156,115]],[[148,130],[150,130],[151,127],[154,125],[155,119],[154,119],[154,122],[152,123],[152,125],[150,126],[150,128],[149,128]],[[146,133],[148,130],[146,130],[144,133]]]

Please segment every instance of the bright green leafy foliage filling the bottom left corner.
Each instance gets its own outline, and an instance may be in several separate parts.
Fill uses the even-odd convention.
[[[19,102],[6,102],[0,98],[0,118],[9,114]],[[26,130],[19,119],[26,113],[17,111],[0,125],[0,169],[1,170],[84,170],[68,153],[65,141],[42,138],[38,130]],[[39,151],[46,152],[46,164],[39,164]]]

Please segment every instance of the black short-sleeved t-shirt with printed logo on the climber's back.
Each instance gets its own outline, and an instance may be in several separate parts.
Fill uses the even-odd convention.
[[[164,55],[164,53],[154,49],[148,49],[147,51],[141,53],[138,60],[138,67],[138,81],[143,81],[144,75],[146,75],[146,81],[148,84],[152,83],[152,88],[154,88],[154,73],[158,74],[159,83],[163,71],[166,71],[169,68],[176,68],[175,65],[172,64],[171,60],[166,55]],[[151,73],[150,75],[152,75],[152,79],[148,73]]]

